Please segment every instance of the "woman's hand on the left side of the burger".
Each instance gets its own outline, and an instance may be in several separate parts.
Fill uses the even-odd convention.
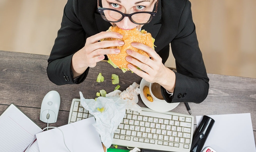
[[[107,47],[123,46],[120,40],[100,41],[105,38],[122,39],[123,35],[116,32],[101,32],[87,38],[84,47],[77,51],[71,62],[74,78],[80,76],[88,67],[95,67],[97,62],[105,58],[105,54],[119,54],[119,49],[103,49]],[[99,42],[100,41],[100,42]]]

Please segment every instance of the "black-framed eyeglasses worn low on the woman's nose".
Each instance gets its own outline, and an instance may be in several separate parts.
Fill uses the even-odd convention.
[[[99,0],[98,0],[98,12],[101,14],[101,17],[108,22],[120,22],[124,17],[129,17],[129,19],[135,23],[135,24],[148,24],[153,16],[156,15],[157,12],[157,4],[156,2],[156,7],[154,12],[134,12],[131,14],[124,14],[123,12],[120,12],[115,9],[109,9],[109,8],[101,8],[99,5]]]

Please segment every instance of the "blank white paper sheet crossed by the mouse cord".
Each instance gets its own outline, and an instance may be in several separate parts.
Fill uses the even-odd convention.
[[[83,119],[75,123],[60,126],[69,150],[104,152],[99,134],[92,124],[94,117]],[[40,152],[68,151],[64,145],[62,133],[58,129],[51,129],[37,133]]]

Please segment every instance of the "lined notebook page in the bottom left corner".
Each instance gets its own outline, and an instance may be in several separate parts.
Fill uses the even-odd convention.
[[[23,152],[41,132],[30,118],[11,104],[0,116],[0,150]]]

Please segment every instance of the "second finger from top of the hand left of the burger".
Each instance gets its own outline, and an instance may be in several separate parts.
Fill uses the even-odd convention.
[[[107,48],[107,47],[120,47],[120,46],[123,46],[123,45],[124,45],[123,41],[112,40],[112,41],[97,42],[97,43],[91,44],[87,47],[90,50],[97,50],[97,49],[102,49],[102,48]]]

